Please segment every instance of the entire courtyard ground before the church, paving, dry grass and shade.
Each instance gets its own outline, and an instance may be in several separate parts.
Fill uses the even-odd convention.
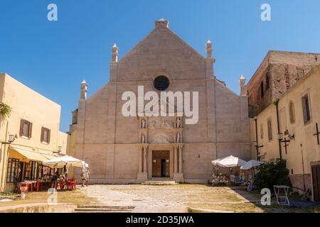
[[[18,195],[16,195],[18,196]],[[0,213],[8,209],[24,212],[51,212],[48,205],[48,192],[30,192],[26,199],[1,201]],[[271,206],[260,204],[259,192],[229,187],[210,187],[202,184],[143,185],[95,184],[89,187],[78,186],[77,190],[58,190],[57,212],[72,212],[69,206],[134,206],[133,212],[320,212],[320,204],[290,197],[292,206],[279,206],[272,198]],[[68,207],[67,207],[68,205]],[[41,208],[41,207],[42,208]],[[70,208],[70,209],[69,209]],[[73,208],[74,209],[74,208]],[[1,211],[2,210],[2,211]]]

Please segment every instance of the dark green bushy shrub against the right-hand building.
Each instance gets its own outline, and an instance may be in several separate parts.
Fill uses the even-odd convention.
[[[258,189],[268,188],[273,191],[273,185],[286,185],[291,187],[289,170],[286,160],[277,159],[258,167],[258,172],[254,177],[254,184]]]

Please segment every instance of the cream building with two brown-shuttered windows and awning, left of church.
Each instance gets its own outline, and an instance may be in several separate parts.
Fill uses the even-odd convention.
[[[41,162],[66,153],[68,134],[59,131],[60,105],[8,74],[0,74],[0,101],[12,109],[0,120],[0,188],[12,192],[14,181],[42,177]]]

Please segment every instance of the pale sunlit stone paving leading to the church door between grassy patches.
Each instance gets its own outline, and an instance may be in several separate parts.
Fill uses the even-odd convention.
[[[188,210],[190,204],[245,204],[247,200],[228,188],[206,187],[204,185],[90,185],[82,188],[87,196],[94,196],[100,203],[108,206],[135,206],[133,212],[177,212]],[[203,194],[203,195],[202,195]],[[221,199],[206,196],[221,195]],[[230,195],[233,199],[224,198]],[[231,198],[230,197],[230,198]],[[200,199],[201,198],[201,199]],[[199,201],[200,200],[200,201]]]

